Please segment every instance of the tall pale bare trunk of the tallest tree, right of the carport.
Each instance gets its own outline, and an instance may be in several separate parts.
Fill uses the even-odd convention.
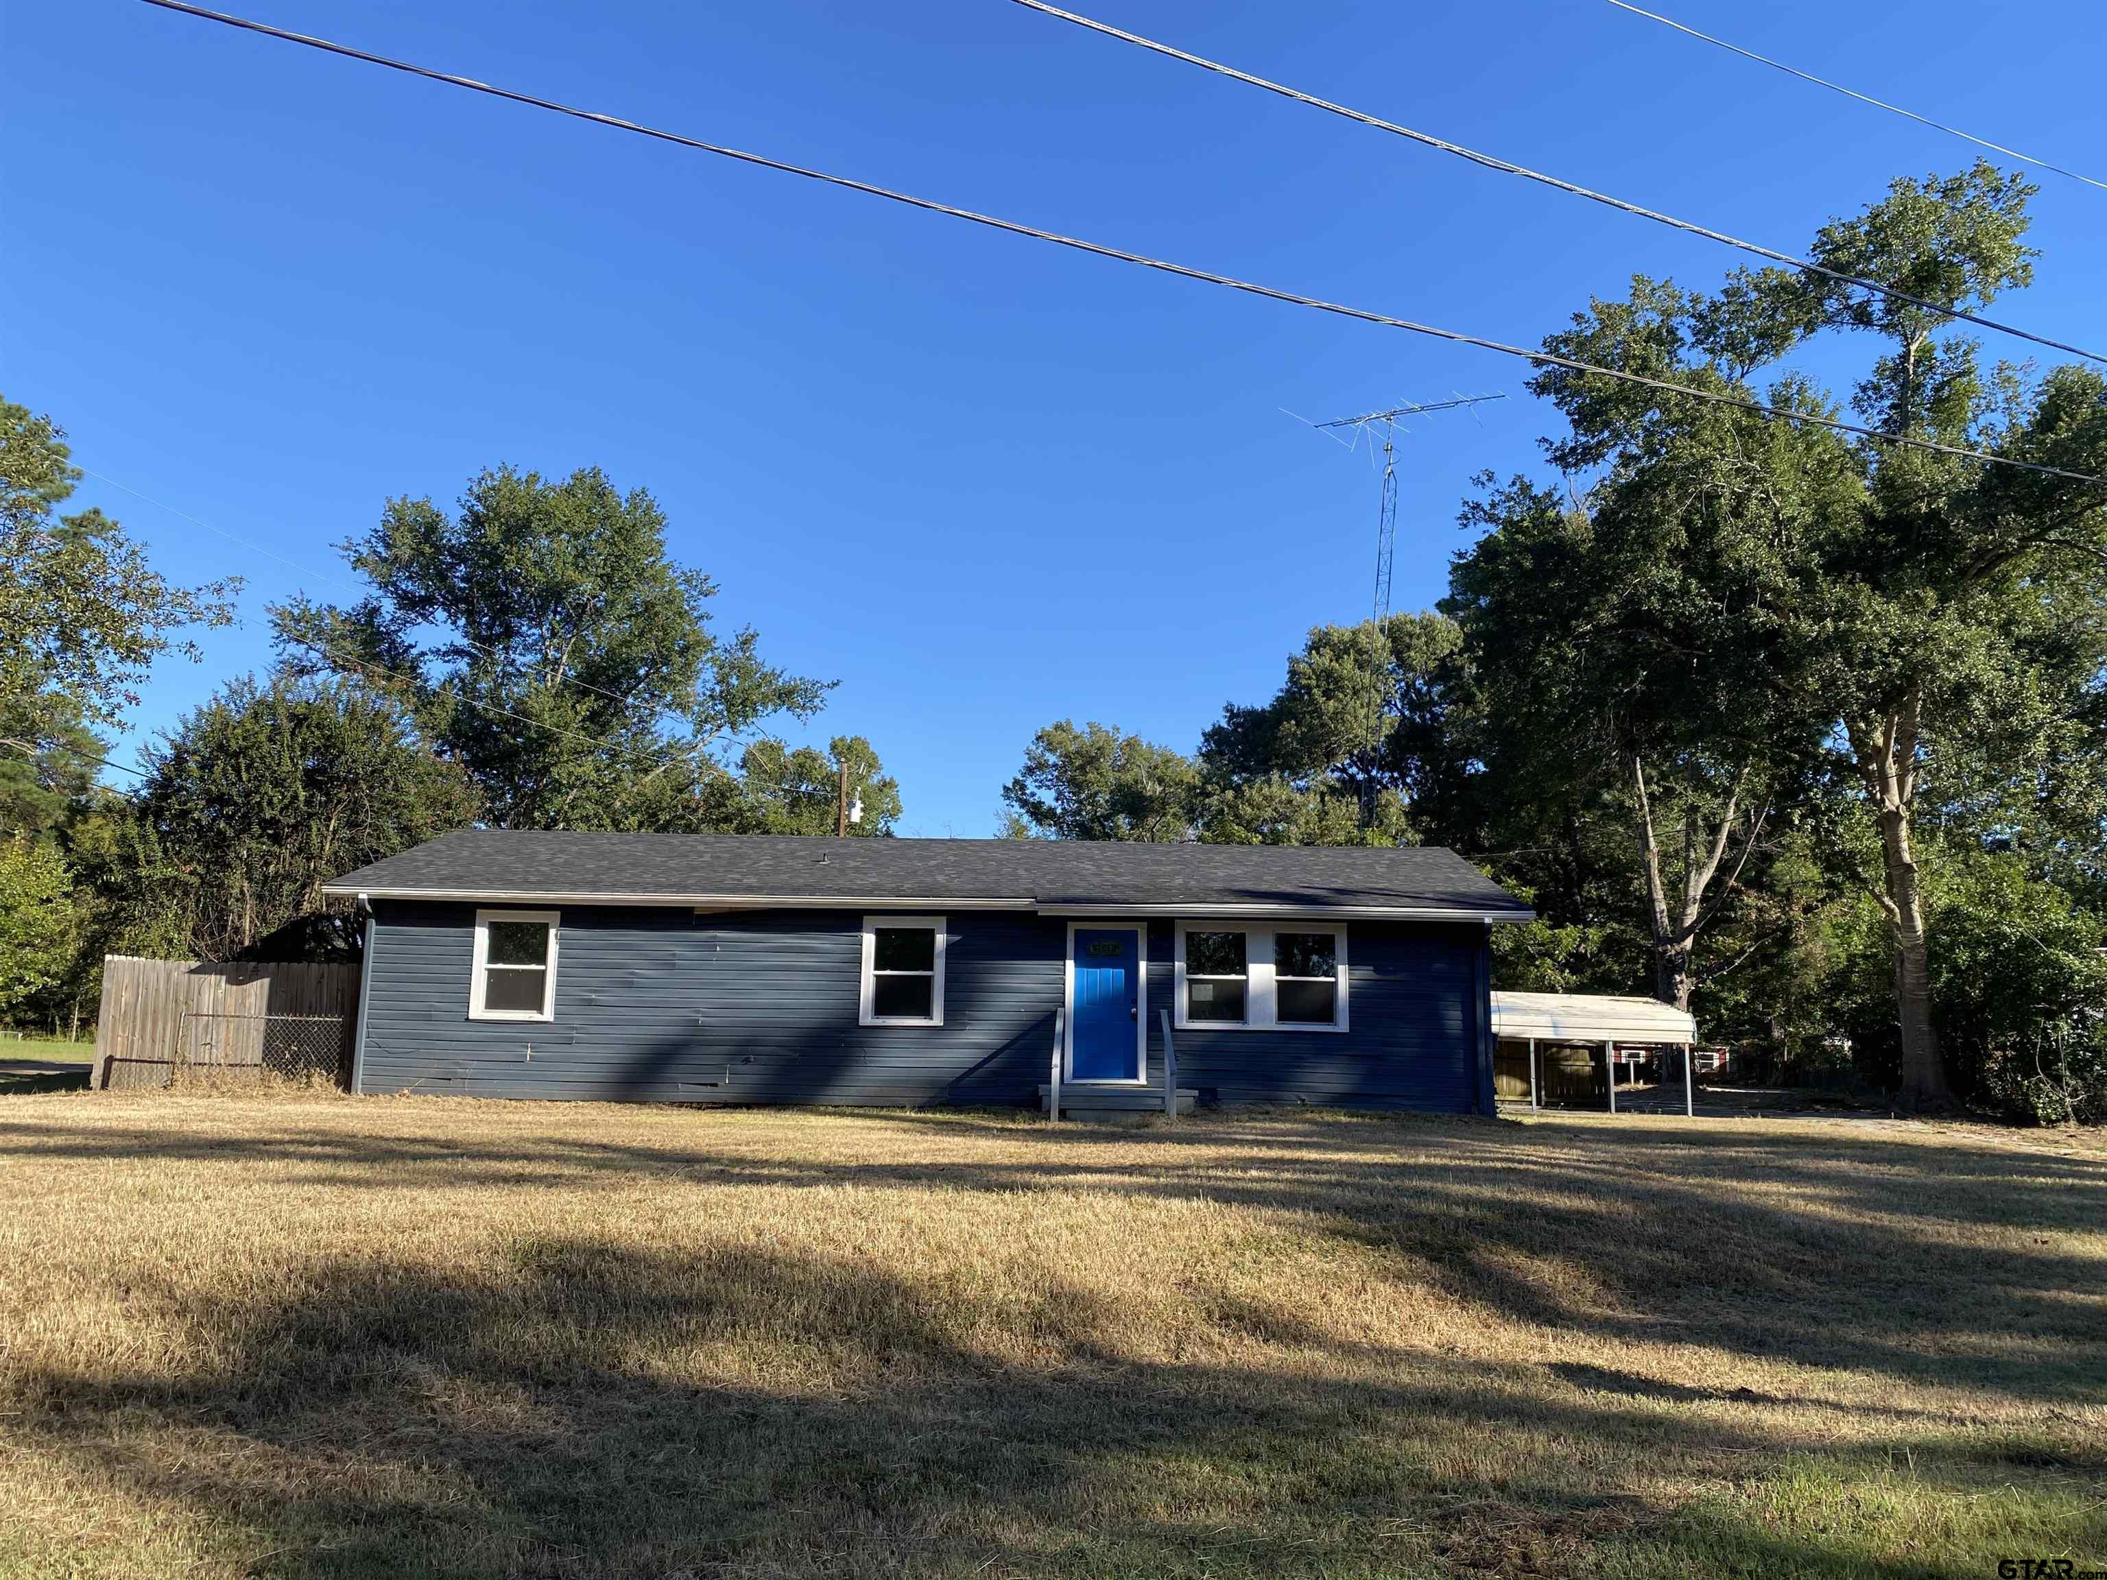
[[[1924,887],[1917,881],[1917,853],[1911,841],[1922,712],[1924,693],[1911,685],[1901,706],[1875,729],[1854,725],[1850,742],[1873,798],[1873,822],[1879,828],[1879,906],[1888,912],[1888,931],[1894,940],[1894,1020],[1903,1034],[1903,1104],[1909,1108],[1949,1108],[1953,1089],[1947,1085],[1947,1066],[1938,1055],[1938,1030],[1932,1026]]]

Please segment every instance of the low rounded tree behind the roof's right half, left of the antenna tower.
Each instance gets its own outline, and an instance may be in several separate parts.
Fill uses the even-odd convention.
[[[1062,718],[1032,737],[1003,803],[1043,838],[1176,843],[1193,838],[1199,792],[1182,752]]]

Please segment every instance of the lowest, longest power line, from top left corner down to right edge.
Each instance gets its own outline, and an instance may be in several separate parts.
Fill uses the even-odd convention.
[[[750,154],[740,147],[725,147],[723,143],[706,143],[697,137],[683,137],[681,133],[659,131],[657,126],[643,126],[634,120],[622,120],[619,116],[603,116],[594,110],[577,110],[554,99],[539,99],[531,93],[518,93],[514,88],[499,88],[489,82],[478,82],[476,78],[453,76],[449,72],[438,72],[428,65],[413,65],[409,61],[396,61],[386,55],[373,55],[369,51],[352,48],[350,44],[335,44],[327,38],[312,38],[308,34],[287,32],[284,27],[272,27],[270,23],[251,21],[247,17],[232,17],[223,11],[206,11],[204,6],[185,4],[185,0],[141,0],[141,4],[156,6],[160,11],[175,11],[185,17],[198,17],[200,21],[217,21],[225,27],[236,27],[251,34],[261,34],[265,38],[278,38],[287,44],[301,44],[306,48],[322,51],[324,55],[341,55],[343,59],[365,61],[367,65],[381,65],[390,72],[405,72],[409,76],[426,78],[428,82],[445,82],[447,86],[468,88],[470,93],[483,93],[493,99],[510,99],[512,103],[523,103],[533,110],[550,110],[558,116],[571,116],[573,120],[590,120],[598,126],[611,126],[615,131],[634,133],[638,137],[651,137],[662,143],[674,143],[678,147],[691,147],[702,154],[716,154],[721,158],[737,160],[740,164],[754,164],[765,171],[777,171],[782,175],[794,175],[805,181],[818,181],[822,185],[841,187],[845,192],[862,192],[872,198],[885,198],[887,202],[898,202],[908,209],[921,209],[933,215],[946,215],[950,219],[963,219],[973,225],[986,225],[988,230],[1001,230],[1011,236],[1028,236],[1039,242],[1051,242],[1054,246],[1068,246],[1077,253],[1091,253],[1096,257],[1108,257],[1117,263],[1136,263],[1144,270],[1157,270],[1159,274],[1176,274],[1184,280],[1199,280],[1203,284],[1218,284],[1228,291],[1243,291],[1252,297],[1264,297],[1268,301],[1285,301],[1294,308],[1311,308],[1313,312],[1327,312],[1338,318],[1353,318],[1363,324],[1384,324],[1386,329],[1403,329],[1412,335],[1426,335],[1429,339],[1445,339],[1454,345],[1477,345],[1485,352],[1498,352],[1502,356],[1519,356],[1525,362],[1538,362],[1542,367],[1561,367],[1572,373],[1593,373],[1603,379],[1616,379],[1618,383],[1631,383],[1648,390],[1665,390],[1669,394],[1681,396],[1686,400],[1702,400],[1715,407],[1732,407],[1736,411],[1753,411],[1761,417],[1778,417],[1780,421],[1812,423],[1816,428],[1829,428],[1839,434],[1856,434],[1875,445],[1896,445],[1903,449],[1932,451],[1938,455],[1953,455],[1968,461],[1985,461],[1991,466],[2010,466],[2021,472],[2037,472],[2042,476],[2069,478],[2071,482],[2099,482],[2107,485],[2107,478],[2094,476],[2090,472],[2071,472],[2061,466],[2044,466],[2042,461],[2021,461],[2008,455],[1991,455],[1987,451],[1974,451],[1964,445],[1941,445],[1930,438],[1907,438],[1901,434],[1884,434],[1877,428],[1865,428],[1860,423],[1839,421],[1837,417],[1820,417],[1808,411],[1789,411],[1785,407],[1772,407],[1764,400],[1749,400],[1742,396],[1721,394],[1717,390],[1698,390],[1688,383],[1675,383],[1671,379],[1654,379],[1646,373],[1627,373],[1624,369],[1601,367],[1599,362],[1582,362],[1572,356],[1559,356],[1557,352],[1528,350],[1523,345],[1509,345],[1507,341],[1485,339],[1483,335],[1466,335],[1458,329],[1441,329],[1437,324],[1414,322],[1412,318],[1393,318],[1391,314],[1372,312],[1367,308],[1351,308],[1342,301],[1325,301],[1323,297],[1306,297],[1296,291],[1281,291],[1279,287],[1258,284],[1256,280],[1239,280],[1233,274],[1216,274],[1214,270],[1199,270],[1188,263],[1171,263],[1169,259],[1148,257],[1146,253],[1129,253],[1121,246],[1106,246],[1104,242],[1089,242],[1081,236],[1064,236],[1054,230],[1041,230],[1037,225],[1026,225],[1016,219],[999,219],[997,215],[976,213],[973,209],[959,209],[948,202],[936,202],[933,198],[917,198],[908,192],[895,192],[891,187],[881,187],[870,181],[858,181],[847,175],[830,175],[828,171],[815,171],[805,164],[790,164],[786,160],[767,158],[765,154]]]

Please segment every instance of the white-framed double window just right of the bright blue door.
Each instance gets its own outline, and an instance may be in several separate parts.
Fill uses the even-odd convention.
[[[1178,923],[1178,1024],[1346,1030],[1346,929],[1321,923]]]

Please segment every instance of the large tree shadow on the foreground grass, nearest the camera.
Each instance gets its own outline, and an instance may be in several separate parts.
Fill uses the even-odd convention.
[[[1620,1485],[1808,1447],[1753,1418],[1426,1355],[1142,1363],[1058,1281],[1007,1357],[853,1253],[552,1237],[461,1279],[137,1293],[209,1344],[171,1374],[17,1371],[13,1435],[88,1500],[244,1532],[253,1574],[1557,1574],[1696,1538],[1751,1574],[1787,1548],[1814,1576],[1974,1572]],[[1321,1348],[1279,1315],[1273,1338]]]

